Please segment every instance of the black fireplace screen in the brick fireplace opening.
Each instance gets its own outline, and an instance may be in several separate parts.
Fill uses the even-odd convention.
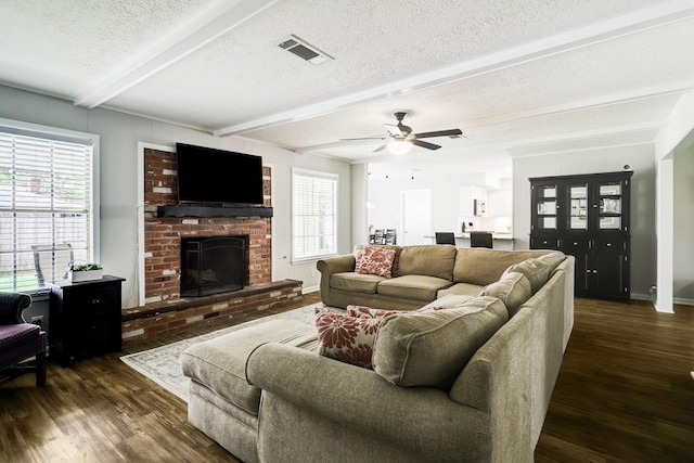
[[[247,280],[244,236],[181,239],[181,297],[243,288]]]

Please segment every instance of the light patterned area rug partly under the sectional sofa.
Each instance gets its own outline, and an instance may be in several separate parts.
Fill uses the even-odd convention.
[[[134,369],[159,386],[164,387],[166,390],[175,394],[184,401],[188,401],[188,385],[190,380],[183,376],[183,373],[181,372],[181,362],[179,360],[181,352],[185,350],[185,348],[195,343],[213,339],[217,336],[221,336],[246,326],[265,323],[269,320],[296,320],[312,325],[316,317],[316,307],[323,307],[323,304],[311,304],[310,306],[252,320],[249,322],[229,326],[202,336],[191,337],[190,339],[179,340],[178,343],[168,344],[150,350],[143,350],[142,352],[130,353],[120,357],[120,360],[123,360],[128,366]]]

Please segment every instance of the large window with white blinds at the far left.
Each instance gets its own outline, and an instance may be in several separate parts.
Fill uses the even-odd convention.
[[[70,261],[93,258],[92,165],[99,138],[3,123],[0,291],[33,292],[63,280]]]

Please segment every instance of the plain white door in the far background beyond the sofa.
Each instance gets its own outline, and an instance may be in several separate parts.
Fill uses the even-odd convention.
[[[432,190],[403,191],[400,196],[401,223],[398,244],[433,244]]]

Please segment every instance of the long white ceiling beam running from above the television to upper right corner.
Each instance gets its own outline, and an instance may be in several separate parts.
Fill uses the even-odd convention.
[[[369,90],[327,100],[296,110],[273,114],[247,123],[228,126],[214,131],[217,137],[249,132],[295,120],[346,110],[363,103],[393,98],[424,90],[454,80],[468,79],[516,66],[536,60],[566,53],[579,48],[614,40],[694,16],[694,2],[691,0],[671,0],[656,7],[639,10],[624,16],[592,24],[579,29],[557,34],[534,42],[513,47],[471,60],[442,69],[421,74]]]

